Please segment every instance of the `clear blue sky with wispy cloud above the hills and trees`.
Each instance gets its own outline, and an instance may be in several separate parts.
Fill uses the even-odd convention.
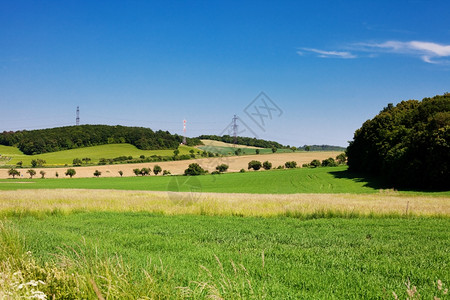
[[[0,0],[0,131],[80,106],[82,124],[197,136],[236,114],[243,135],[346,146],[387,103],[450,91],[449,19],[448,1]]]

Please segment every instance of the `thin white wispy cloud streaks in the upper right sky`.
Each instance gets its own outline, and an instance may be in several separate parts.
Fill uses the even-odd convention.
[[[314,48],[301,50],[316,54],[318,57],[357,58],[378,57],[383,53],[395,53],[419,57],[430,64],[450,64],[450,45],[424,41],[386,41],[382,43],[354,43],[343,49],[326,51]],[[302,55],[302,52],[297,52]]]

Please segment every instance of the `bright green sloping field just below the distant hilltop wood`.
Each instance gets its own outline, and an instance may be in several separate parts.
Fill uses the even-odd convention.
[[[179,150],[180,155],[190,154],[190,150],[198,151],[198,149],[188,146],[180,146]],[[10,160],[0,160],[0,166],[5,164],[16,165],[19,161],[22,161],[24,166],[29,166],[32,159],[38,158],[44,159],[47,162],[46,166],[64,166],[66,164],[71,166],[74,158],[89,157],[92,159],[91,163],[97,164],[100,158],[115,158],[119,156],[139,158],[141,155],[145,155],[145,157],[152,155],[173,156],[173,150],[140,150],[131,144],[109,144],[38,155],[25,155],[16,147],[0,145],[0,154],[2,157],[11,158]]]

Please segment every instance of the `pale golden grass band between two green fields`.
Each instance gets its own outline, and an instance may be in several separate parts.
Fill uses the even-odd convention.
[[[214,194],[116,190],[17,190],[0,192],[0,214],[73,211],[152,212],[166,215],[450,216],[450,197],[380,194]]]

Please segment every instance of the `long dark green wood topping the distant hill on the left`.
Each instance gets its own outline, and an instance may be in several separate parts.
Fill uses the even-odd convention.
[[[0,145],[16,146],[25,154],[40,154],[81,147],[129,143],[142,150],[175,149],[183,137],[168,131],[144,127],[109,125],[66,126],[39,130],[0,133]],[[188,145],[201,141],[187,138]]]

